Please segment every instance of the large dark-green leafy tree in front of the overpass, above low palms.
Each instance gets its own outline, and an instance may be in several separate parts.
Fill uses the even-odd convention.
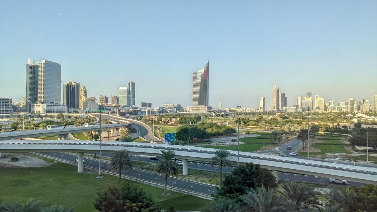
[[[275,177],[267,169],[253,163],[246,163],[232,171],[231,175],[226,175],[222,186],[217,188],[215,198],[226,197],[238,199],[251,188],[276,186]]]

